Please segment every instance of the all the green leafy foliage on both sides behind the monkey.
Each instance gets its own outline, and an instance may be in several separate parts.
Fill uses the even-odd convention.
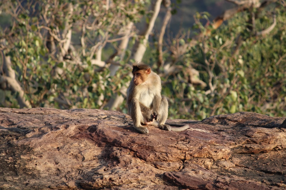
[[[131,71],[126,63],[134,40],[140,39],[135,28],[124,56],[112,54],[124,27],[148,18],[149,1],[112,1],[110,7],[100,0],[25,1],[21,6],[18,2],[0,4],[1,50],[11,57],[17,80],[33,107],[102,109],[115,95],[124,94],[121,90],[129,84]],[[171,73],[156,66],[157,36],[153,36],[144,62],[161,71],[170,119],[204,119],[240,111],[285,116],[286,11],[285,6],[276,5],[261,13],[256,9],[239,13],[198,40],[191,39],[189,31],[165,39],[165,65],[178,68]],[[253,13],[258,14],[255,25],[248,22]],[[256,35],[272,24],[272,14],[277,19],[275,28],[265,36]],[[211,23],[209,16],[197,13],[192,30],[206,34],[210,26],[201,23]],[[65,51],[69,31],[72,43]],[[109,58],[120,63],[114,75],[109,61],[104,66],[94,64]],[[197,77],[206,86],[190,81],[191,68],[199,71]],[[4,94],[0,106],[19,107],[17,93],[0,93]],[[126,113],[126,101],[118,110]]]

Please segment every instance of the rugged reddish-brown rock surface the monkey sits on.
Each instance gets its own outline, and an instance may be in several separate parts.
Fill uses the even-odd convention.
[[[242,112],[139,134],[116,111],[0,108],[0,189],[285,189],[284,120]]]

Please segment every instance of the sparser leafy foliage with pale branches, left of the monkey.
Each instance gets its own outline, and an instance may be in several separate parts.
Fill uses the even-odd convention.
[[[1,5],[11,20],[9,26],[1,24],[5,28],[1,28],[0,36],[7,42],[3,50],[12,58],[17,79],[32,107],[102,108],[99,97],[107,101],[118,92],[123,84],[119,75],[109,76],[109,70],[92,64],[92,59],[109,41],[116,46],[122,26],[138,22],[145,3],[116,1],[112,5],[108,11],[105,2],[98,0],[27,1],[21,5],[7,1]],[[70,28],[76,36],[72,38],[78,38],[73,39],[77,50],[69,49],[64,54],[65,35]],[[55,50],[50,48],[51,35],[57,39]],[[19,107],[17,101],[11,104],[11,98],[6,100],[2,106]]]

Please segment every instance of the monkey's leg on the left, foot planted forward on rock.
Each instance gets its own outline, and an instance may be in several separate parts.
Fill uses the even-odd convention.
[[[141,125],[144,122],[144,118],[140,109],[140,104],[138,99],[133,98],[130,105],[130,116],[133,121],[133,127],[140,133],[147,134],[149,131],[146,127]]]

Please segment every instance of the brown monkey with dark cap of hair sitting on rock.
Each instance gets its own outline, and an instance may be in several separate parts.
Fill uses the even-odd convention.
[[[133,64],[132,74],[133,78],[127,89],[127,105],[133,127],[136,130],[147,134],[149,131],[142,124],[176,132],[189,127],[183,124],[171,124],[172,126],[170,126],[165,123],[168,117],[168,101],[166,97],[161,96],[162,86],[159,75],[143,62]]]

